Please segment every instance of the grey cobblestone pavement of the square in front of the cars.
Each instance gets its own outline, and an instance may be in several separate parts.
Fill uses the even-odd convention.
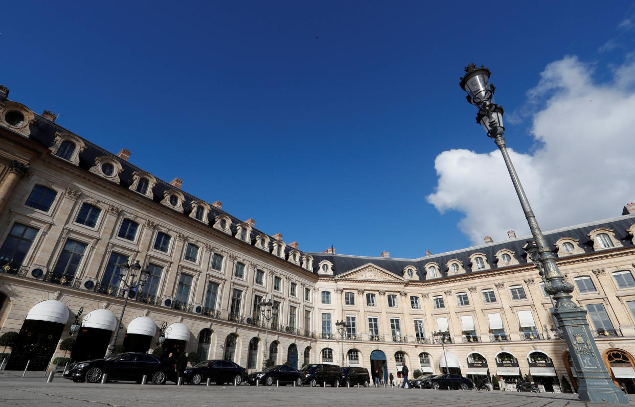
[[[129,383],[73,383],[59,376],[46,383],[42,373],[0,372],[0,406],[443,406],[583,407],[576,394],[477,392],[401,388],[177,386]],[[635,396],[630,395],[631,405]]]

